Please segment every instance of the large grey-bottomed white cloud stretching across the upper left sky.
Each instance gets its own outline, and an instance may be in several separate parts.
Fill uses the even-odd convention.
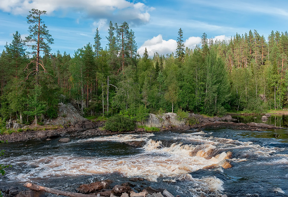
[[[151,7],[144,3],[132,3],[127,0],[11,0],[0,1],[0,9],[13,14],[28,14],[32,8],[46,10],[48,14],[54,11],[72,9],[84,13],[95,20],[107,19],[116,22],[128,22],[132,25],[147,23]]]

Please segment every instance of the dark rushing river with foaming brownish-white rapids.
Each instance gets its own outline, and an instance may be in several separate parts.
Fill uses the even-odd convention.
[[[135,191],[152,186],[181,197],[287,196],[287,133],[204,129],[1,144],[6,153],[0,163],[12,167],[0,177],[0,187],[29,181],[74,191],[92,181],[111,179],[115,185],[143,177],[144,182],[134,182]],[[143,148],[120,143],[141,139]],[[229,151],[233,167],[203,169]]]

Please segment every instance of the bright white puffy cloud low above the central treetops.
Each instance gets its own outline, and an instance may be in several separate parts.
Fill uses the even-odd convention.
[[[176,47],[176,40],[163,40],[162,35],[159,34],[158,36],[154,36],[150,40],[146,40],[144,44],[138,49],[138,52],[142,56],[146,48],[149,56],[153,56],[155,52],[161,55],[166,55],[167,53],[175,53]]]

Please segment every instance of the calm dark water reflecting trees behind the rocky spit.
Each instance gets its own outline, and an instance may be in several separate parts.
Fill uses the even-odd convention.
[[[274,125],[277,127],[285,127],[288,128],[288,115],[283,114],[272,114],[271,116],[267,116],[268,119],[262,120],[262,115],[254,115],[254,116],[232,116],[232,118],[237,119],[234,122],[242,122],[242,123],[265,123]]]

